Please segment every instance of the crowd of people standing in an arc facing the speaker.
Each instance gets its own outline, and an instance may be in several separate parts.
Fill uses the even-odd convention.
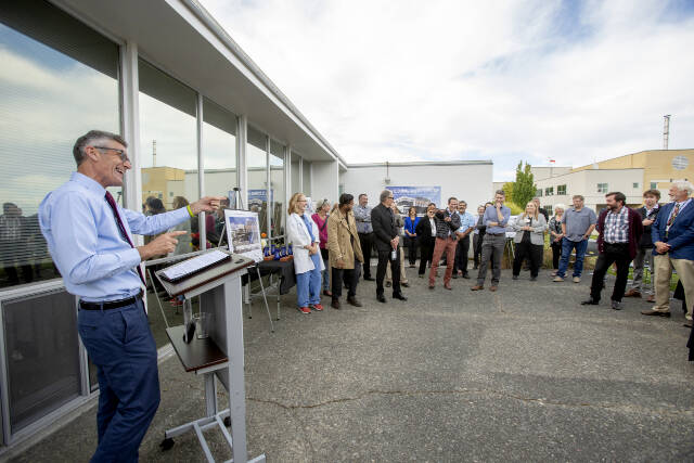
[[[632,209],[626,205],[624,193],[611,192],[605,195],[606,207],[600,215],[584,206],[583,196],[575,195],[571,207],[557,204],[552,217],[536,197],[525,205],[523,214],[512,217],[504,204],[505,193],[499,190],[492,202],[477,207],[476,216],[467,211],[464,201],[450,197],[445,208],[430,203],[420,217],[415,207],[409,207],[403,217],[393,192],[384,190],[375,207],[369,205],[367,194],[360,194],[355,204],[355,197],[345,193],[331,213],[329,201],[323,200],[309,218],[305,214],[306,196],[296,193],[290,202],[287,240],[295,249],[298,309],[303,313],[322,311],[321,292],[331,298],[331,307],[339,309],[343,287],[347,288],[347,304],[361,307],[357,299],[360,279],[375,280],[376,300],[381,303],[386,303],[385,287],[391,287],[394,299],[407,300],[402,293],[402,287],[409,286],[406,256],[409,268],[417,267],[419,256],[417,275],[427,276],[429,290],[436,287],[444,266],[442,286],[451,291],[451,280],[472,278],[471,244],[473,270],[477,270],[471,290],[484,290],[491,270],[489,291],[498,291],[509,236],[513,236],[514,246],[513,280],[520,278],[525,263],[530,281],[537,281],[548,237],[552,281],[565,281],[574,256],[571,281],[580,283],[589,241],[596,232],[597,259],[590,296],[581,304],[600,303],[605,275],[614,266],[613,309],[621,309],[622,298],[642,297],[643,293],[647,301],[654,303],[652,309],[642,312],[644,316],[669,317],[673,269],[682,297],[694,301],[694,207],[687,207],[692,184],[677,182],[669,195],[672,201],[660,205],[659,191],[648,190],[643,194],[643,207]],[[372,254],[377,258],[375,279]],[[631,267],[633,279],[627,291]],[[644,269],[651,272],[647,283]],[[692,308],[686,303],[683,307],[691,325]]]

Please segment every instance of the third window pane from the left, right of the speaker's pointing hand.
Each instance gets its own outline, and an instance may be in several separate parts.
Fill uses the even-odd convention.
[[[203,159],[205,194],[233,196],[233,189],[237,185],[236,116],[207,99],[203,100]],[[229,206],[229,203],[226,202],[223,206]],[[224,244],[224,209],[220,208],[216,215],[206,217],[205,221],[207,240],[213,246]]]

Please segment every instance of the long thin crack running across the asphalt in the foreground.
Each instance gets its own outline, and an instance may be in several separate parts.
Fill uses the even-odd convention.
[[[544,398],[537,398],[537,397],[523,397],[523,396],[518,396],[515,394],[509,394],[509,393],[504,393],[501,390],[493,390],[493,389],[468,389],[468,388],[463,388],[463,389],[450,389],[450,390],[378,390],[378,389],[372,389],[372,390],[368,390],[363,394],[360,394],[358,396],[355,397],[344,397],[344,398],[338,398],[338,399],[330,399],[330,400],[325,400],[323,402],[318,402],[318,403],[309,403],[309,404],[287,404],[287,403],[282,403],[278,400],[272,400],[272,399],[260,399],[257,397],[247,397],[247,400],[254,401],[254,402],[259,402],[259,403],[269,403],[269,404],[273,404],[277,407],[280,407],[282,409],[285,410],[299,410],[299,409],[304,409],[304,410],[310,410],[310,409],[317,409],[317,408],[321,408],[321,407],[325,407],[325,406],[331,406],[334,403],[345,403],[345,402],[352,402],[352,401],[357,401],[357,400],[361,400],[364,399],[369,396],[442,396],[442,395],[450,395],[450,396],[454,396],[454,395],[492,395],[492,396],[498,396],[498,397],[503,397],[503,398],[509,398],[509,399],[514,399],[514,400],[519,400],[526,403],[538,403],[540,406],[554,406],[554,407],[565,407],[565,408],[596,408],[596,409],[603,409],[603,410],[615,410],[615,411],[622,411],[622,412],[637,412],[637,413],[647,413],[647,414],[665,414],[665,415],[671,415],[671,416],[681,416],[681,415],[692,415],[692,417],[694,417],[694,409],[683,409],[683,410],[679,410],[679,409],[651,409],[651,408],[644,408],[644,407],[639,407],[639,406],[625,406],[625,404],[617,404],[617,403],[590,403],[590,402],[562,402],[562,401],[557,401],[557,400],[547,400]]]

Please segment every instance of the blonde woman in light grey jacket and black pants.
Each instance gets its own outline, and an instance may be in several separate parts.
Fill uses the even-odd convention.
[[[530,260],[530,281],[538,279],[538,271],[542,263],[542,250],[544,249],[544,228],[547,220],[542,214],[538,214],[538,206],[529,202],[525,211],[513,224],[516,232],[513,241],[516,252],[513,259],[513,279],[518,280],[523,260]]]

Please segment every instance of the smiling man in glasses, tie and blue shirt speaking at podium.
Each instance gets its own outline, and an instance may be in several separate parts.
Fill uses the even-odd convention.
[[[146,217],[124,209],[106,190],[121,187],[131,168],[127,143],[92,130],[73,149],[77,171],[39,206],[39,222],[65,288],[79,297],[77,326],[99,374],[99,446],[92,461],[138,460],[138,448],[159,404],[156,345],[142,301],[140,262],[176,248],[164,233],[144,246],[132,234],[165,232],[219,207],[203,197],[177,210]]]

